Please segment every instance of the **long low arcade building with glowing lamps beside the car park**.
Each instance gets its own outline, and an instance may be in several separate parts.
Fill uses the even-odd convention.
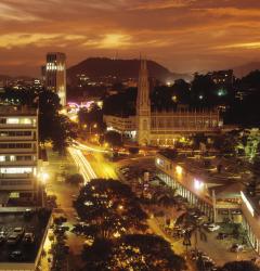
[[[172,150],[166,150],[157,153],[155,165],[158,178],[177,189],[178,194],[199,208],[210,220],[242,221],[243,184],[237,180],[242,177],[246,180],[247,177],[243,169],[240,172],[232,171],[235,166],[233,162],[214,156],[204,157],[202,153],[176,154]],[[219,165],[222,165],[221,170],[218,170]]]

